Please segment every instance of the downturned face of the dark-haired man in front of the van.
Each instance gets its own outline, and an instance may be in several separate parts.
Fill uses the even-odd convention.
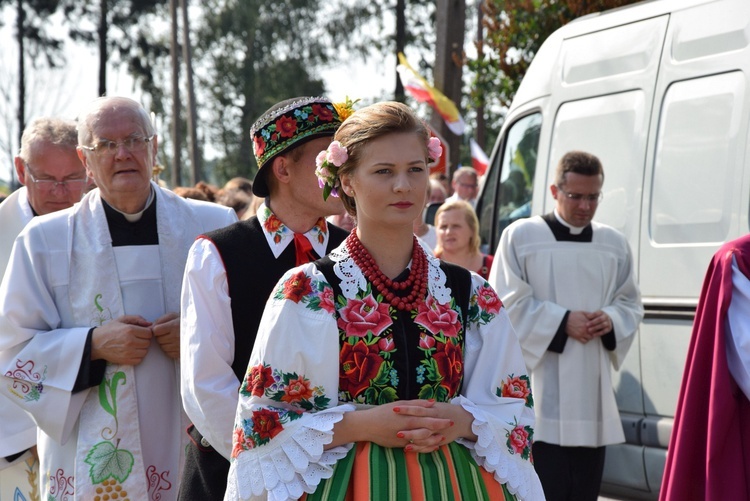
[[[584,176],[575,172],[565,174],[561,186],[550,186],[557,201],[557,212],[572,226],[587,226],[599,207],[602,193],[602,176]]]

